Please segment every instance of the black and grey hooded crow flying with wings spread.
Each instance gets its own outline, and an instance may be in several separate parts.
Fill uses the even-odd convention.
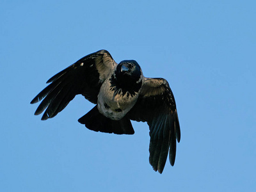
[[[95,106],[79,118],[79,123],[96,132],[134,134],[131,120],[147,122],[152,168],[162,173],[168,154],[174,165],[180,125],[166,79],[145,77],[135,60],[116,63],[102,49],[61,70],[47,83],[50,84],[31,100],[31,104],[42,100],[35,111],[35,115],[45,111],[42,120],[56,116],[81,94]]]

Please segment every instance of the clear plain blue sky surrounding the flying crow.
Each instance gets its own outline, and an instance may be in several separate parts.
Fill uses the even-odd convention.
[[[256,191],[255,6],[2,0],[0,191]],[[33,115],[47,79],[99,49],[170,83],[181,140],[162,175],[145,123],[132,136],[90,131],[81,96],[50,120]]]

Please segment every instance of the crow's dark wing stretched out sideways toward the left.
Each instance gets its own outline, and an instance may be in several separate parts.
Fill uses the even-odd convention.
[[[31,101],[31,104],[34,104],[44,99],[36,109],[35,115],[46,109],[42,120],[52,118],[78,94],[96,104],[100,86],[113,72],[115,65],[117,63],[106,50],[84,56],[47,81],[51,84]]]

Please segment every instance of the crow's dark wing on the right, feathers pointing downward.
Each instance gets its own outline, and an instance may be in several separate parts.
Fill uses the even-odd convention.
[[[127,115],[131,120],[147,122],[149,125],[149,162],[154,170],[163,172],[168,151],[173,166],[176,140],[180,141],[180,125],[168,82],[161,78],[146,78],[135,106]]]

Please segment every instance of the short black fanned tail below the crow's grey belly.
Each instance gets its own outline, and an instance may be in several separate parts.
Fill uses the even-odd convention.
[[[115,134],[134,134],[129,118],[124,117],[121,120],[111,120],[102,115],[97,106],[92,108],[86,115],[79,118],[78,122],[93,131],[113,132]]]

